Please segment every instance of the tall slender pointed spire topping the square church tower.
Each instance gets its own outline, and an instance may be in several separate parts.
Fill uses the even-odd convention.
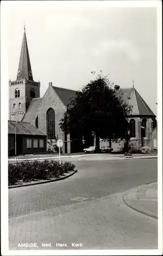
[[[19,66],[18,66],[18,72],[17,72],[17,80],[21,80],[23,78],[27,78],[27,79],[33,81],[25,27],[24,27],[24,36],[23,36],[22,45],[21,45],[21,53],[20,53]]]

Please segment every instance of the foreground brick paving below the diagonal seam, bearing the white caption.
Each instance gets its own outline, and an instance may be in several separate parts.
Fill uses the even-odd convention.
[[[123,193],[9,219],[9,248],[37,243],[35,249],[157,249],[157,220],[132,210]],[[41,243],[52,247],[41,247]],[[72,243],[82,243],[74,248]],[[33,249],[33,248],[27,248]]]

